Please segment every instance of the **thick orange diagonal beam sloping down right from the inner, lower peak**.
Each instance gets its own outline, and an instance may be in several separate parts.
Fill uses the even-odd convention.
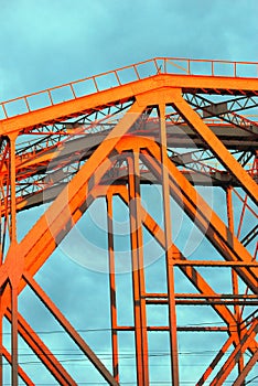
[[[144,162],[149,165],[151,171],[160,179],[160,157],[159,147],[153,144],[149,151],[143,150],[142,153]],[[151,153],[151,156],[149,154]],[[158,163],[157,163],[158,160]],[[187,215],[195,222],[200,229],[206,235],[211,243],[219,250],[222,256],[227,260],[243,260],[250,262],[252,260],[250,254],[240,244],[216,213],[207,205],[191,183],[176,169],[176,167],[169,161],[170,169],[170,189],[174,200],[182,205]],[[257,269],[236,268],[243,280],[257,292]]]

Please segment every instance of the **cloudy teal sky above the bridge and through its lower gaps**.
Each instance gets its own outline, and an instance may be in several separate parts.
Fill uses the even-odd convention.
[[[257,62],[257,13],[256,0],[0,0],[0,101],[155,56]],[[20,237],[40,212],[33,210],[26,218],[25,215],[19,217]],[[119,222],[119,213],[117,215]],[[206,248],[203,244],[198,251],[204,253]],[[147,274],[148,283],[154,282],[155,290],[161,292],[164,291],[162,268],[161,264],[152,265]],[[37,280],[110,367],[106,354],[110,352],[109,332],[105,330],[108,329],[107,276],[82,268],[58,250],[37,275]],[[127,305],[131,297],[128,291],[130,278],[121,275],[117,281],[121,304],[119,322],[126,324],[131,320],[132,323],[132,310]],[[216,278],[213,281],[216,286]],[[183,277],[179,282],[179,290],[189,289]],[[98,291],[94,287],[96,283]],[[82,293],[85,298],[79,297]],[[85,304],[86,315],[82,311]],[[19,307],[32,326],[42,332],[42,339],[53,352],[60,354],[60,358],[66,355],[67,368],[77,382],[84,382],[83,357],[31,291],[24,291]],[[187,311],[190,323],[194,322],[195,312],[196,308],[194,312]],[[215,313],[206,314],[203,309],[202,312],[204,322],[219,322]],[[150,322],[164,324],[161,314],[165,317],[164,312],[150,312]],[[185,309],[181,308],[179,320],[184,321],[184,318]],[[4,329],[8,345],[8,324]],[[101,329],[97,336],[90,331],[94,329]],[[214,351],[223,342],[218,335]],[[155,382],[160,382],[161,376],[164,380],[170,376],[165,339],[164,334],[157,334],[149,342],[153,353],[160,350],[163,353],[158,358],[151,357],[151,379]],[[202,369],[203,356],[206,355],[209,362],[214,354],[205,354],[202,349],[202,354],[197,355],[200,363],[195,362],[193,367],[193,357],[196,361],[193,346],[197,350],[198,343],[205,340],[207,335],[203,334],[197,341],[195,337],[179,339],[181,351],[187,353],[183,356],[182,375],[189,385],[195,378],[194,373]],[[120,342],[125,356],[122,377],[133,383],[132,335],[125,333]],[[36,377],[36,384],[56,384],[42,366],[36,365],[32,355],[25,356],[25,346],[22,350],[20,360],[26,363],[24,368],[29,374]],[[157,368],[161,364],[163,367],[159,372]],[[88,385],[100,380],[92,367],[86,368],[90,368]],[[8,385],[9,369],[4,377]]]

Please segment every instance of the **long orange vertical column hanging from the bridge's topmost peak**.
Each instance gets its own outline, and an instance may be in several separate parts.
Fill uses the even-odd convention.
[[[163,194],[163,215],[164,215],[164,236],[165,236],[165,262],[168,280],[168,300],[169,300],[169,328],[170,328],[170,350],[171,350],[171,376],[173,386],[179,386],[179,358],[178,358],[178,336],[176,336],[176,313],[174,297],[174,266],[172,229],[170,216],[170,187],[166,153],[166,129],[165,129],[165,105],[159,105],[160,112],[160,142],[161,142],[161,164],[162,164],[162,194]]]

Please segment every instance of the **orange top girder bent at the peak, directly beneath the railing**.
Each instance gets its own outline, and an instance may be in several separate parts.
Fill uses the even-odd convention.
[[[9,136],[18,133],[26,128],[46,125],[56,120],[65,120],[86,114],[93,109],[110,106],[117,101],[135,99],[136,95],[159,90],[160,88],[178,87],[183,93],[202,93],[203,89],[211,94],[257,95],[258,79],[256,78],[227,78],[213,76],[185,76],[159,74],[146,79],[121,85],[101,93],[78,97],[54,106],[45,107],[36,111],[26,112],[19,117],[12,117],[0,121],[0,135]]]

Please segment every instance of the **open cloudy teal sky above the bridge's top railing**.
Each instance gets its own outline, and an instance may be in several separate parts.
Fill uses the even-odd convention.
[[[154,56],[257,60],[256,0],[0,6],[0,100]]]

